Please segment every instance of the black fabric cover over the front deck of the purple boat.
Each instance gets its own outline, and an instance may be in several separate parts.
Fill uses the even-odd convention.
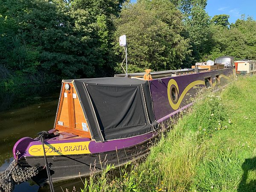
[[[113,77],[76,79],[74,85],[96,141],[133,137],[158,128],[148,81]]]

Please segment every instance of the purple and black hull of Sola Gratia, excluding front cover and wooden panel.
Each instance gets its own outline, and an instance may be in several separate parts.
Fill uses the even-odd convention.
[[[192,105],[191,98],[195,97],[199,89],[207,85],[215,88],[221,87],[228,83],[232,75],[233,69],[226,68],[148,81],[154,121],[158,125],[167,125],[166,122],[172,116]],[[142,89],[140,94],[144,94],[144,92],[145,89]],[[148,110],[148,108],[146,109]],[[147,116],[150,116],[149,113],[150,111]],[[148,117],[148,119],[150,118]],[[149,124],[151,125],[151,122]],[[60,135],[51,139],[46,139],[44,140],[44,148],[50,164],[52,181],[58,182],[88,176],[105,169],[108,164],[122,166],[129,161],[143,157],[148,153],[149,143],[157,137],[159,130],[160,128],[157,126],[157,128],[154,127],[151,131],[143,134],[109,139],[103,142],[86,137],[77,137],[77,135],[65,132],[61,132]],[[55,129],[49,132],[58,133]],[[45,166],[43,148],[39,139],[29,137],[20,139],[13,148],[13,154],[21,166]],[[46,182],[46,171],[42,170],[33,179],[38,184]]]

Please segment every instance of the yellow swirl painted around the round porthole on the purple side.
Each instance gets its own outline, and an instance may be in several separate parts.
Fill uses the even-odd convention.
[[[167,96],[168,96],[168,100],[169,100],[169,103],[171,105],[171,107],[176,110],[179,108],[180,106],[180,103],[182,102],[184,96],[186,95],[186,93],[194,86],[196,85],[199,85],[199,84],[204,84],[204,81],[201,81],[201,80],[198,80],[198,81],[193,81],[192,83],[190,83],[188,86],[186,86],[186,88],[183,90],[183,92],[181,93],[180,95],[180,98],[179,100],[177,101],[177,103],[173,103],[172,102],[172,99],[171,99],[171,87],[172,85],[175,85],[176,88],[177,88],[177,91],[178,91],[178,94],[179,94],[179,87],[178,87],[178,84],[177,82],[174,80],[174,79],[171,79],[168,83],[168,86],[167,86]]]

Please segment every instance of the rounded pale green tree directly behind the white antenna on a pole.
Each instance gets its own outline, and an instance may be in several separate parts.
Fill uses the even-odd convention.
[[[180,36],[183,30],[181,18],[180,12],[169,0],[140,0],[136,4],[124,4],[115,22],[115,54],[122,54],[118,38],[125,34],[129,72],[139,72],[145,68],[170,70],[179,67],[189,47]],[[123,73],[120,63],[118,66],[117,71]]]

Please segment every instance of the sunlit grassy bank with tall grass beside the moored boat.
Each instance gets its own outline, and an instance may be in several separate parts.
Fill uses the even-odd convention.
[[[206,94],[144,163],[92,176],[81,191],[256,191],[256,76]]]

